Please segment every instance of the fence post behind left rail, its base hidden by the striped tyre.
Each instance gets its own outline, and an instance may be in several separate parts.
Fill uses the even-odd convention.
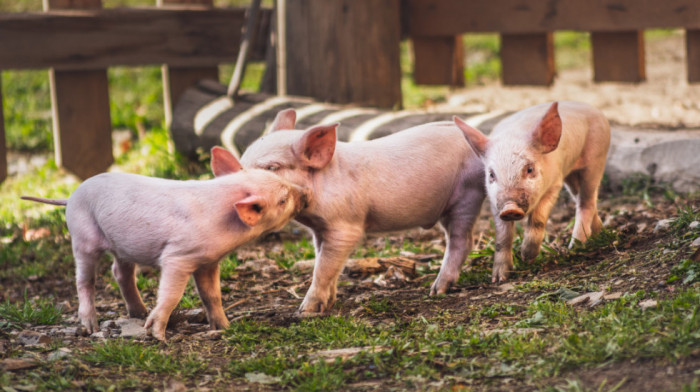
[[[168,5],[200,5],[213,7],[213,0],[156,0],[159,7]],[[219,67],[173,67],[163,65],[163,104],[165,105],[165,123],[170,126],[173,108],[187,88],[202,79],[219,80]]]

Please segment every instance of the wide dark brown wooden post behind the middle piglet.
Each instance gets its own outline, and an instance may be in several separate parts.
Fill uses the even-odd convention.
[[[288,2],[287,93],[336,103],[400,106],[399,3]]]

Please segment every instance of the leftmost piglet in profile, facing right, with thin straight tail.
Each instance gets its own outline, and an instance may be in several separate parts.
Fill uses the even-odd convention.
[[[241,170],[227,150],[212,149],[216,178],[176,181],[105,173],[84,183],[68,199],[22,199],[65,205],[76,263],[80,321],[99,330],[95,312],[95,268],[114,256],[112,272],[129,317],[144,318],[146,306],[135,280],[135,264],[159,267],[156,307],[146,328],[164,341],[165,328],[194,275],[212,329],[229,322],[221,306],[219,261],[237,246],[282,228],[306,203],[301,188],[264,170]]]

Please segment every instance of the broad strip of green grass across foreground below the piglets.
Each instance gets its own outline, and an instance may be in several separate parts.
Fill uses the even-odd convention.
[[[492,305],[480,309],[466,325],[449,315],[433,320],[371,327],[351,319],[304,320],[289,327],[239,321],[226,331],[238,355],[231,361],[234,376],[265,373],[292,389],[342,388],[343,383],[390,376],[406,381],[437,380],[456,374],[464,378],[513,377],[544,379],[562,372],[628,358],[668,358],[690,354],[700,344],[700,293],[682,292],[657,308],[642,310],[645,293],[625,296],[592,311],[561,300],[542,300],[526,308]],[[505,332],[484,334],[481,321],[502,317]],[[515,316],[515,317],[513,317]],[[543,332],[509,333],[518,328]],[[320,364],[314,353],[323,349],[378,347],[344,362]],[[330,384],[320,384],[322,380]]]

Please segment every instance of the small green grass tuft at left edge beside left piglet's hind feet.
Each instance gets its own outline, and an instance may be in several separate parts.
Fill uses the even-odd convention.
[[[52,298],[30,301],[25,295],[22,302],[12,303],[5,300],[4,303],[0,303],[0,317],[15,323],[54,325],[63,319],[63,310]]]

